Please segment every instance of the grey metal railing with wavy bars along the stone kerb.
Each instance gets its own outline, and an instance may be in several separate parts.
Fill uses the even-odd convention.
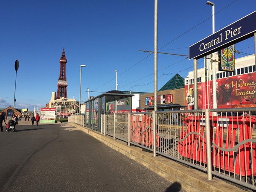
[[[102,114],[101,132],[207,172],[208,180],[215,175],[256,190],[255,112],[234,108]],[[82,122],[76,118],[69,122]]]

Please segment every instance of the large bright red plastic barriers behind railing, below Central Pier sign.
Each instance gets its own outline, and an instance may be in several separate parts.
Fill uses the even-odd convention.
[[[191,134],[178,144],[178,152],[186,158],[201,163],[207,163],[205,118],[188,116],[184,119],[186,130],[181,130],[180,139]],[[252,139],[252,125],[256,117],[251,116],[213,116],[210,117],[210,140],[219,148],[233,148],[236,144]],[[212,131],[214,129],[215,131]],[[183,132],[184,131],[184,132]],[[215,137],[213,136],[213,132]],[[239,132],[238,141],[236,132]],[[202,136],[200,137],[199,134]],[[204,139],[203,139],[204,137]],[[256,175],[256,143],[244,143],[235,151],[222,151],[215,145],[212,148],[212,166],[241,176]]]

